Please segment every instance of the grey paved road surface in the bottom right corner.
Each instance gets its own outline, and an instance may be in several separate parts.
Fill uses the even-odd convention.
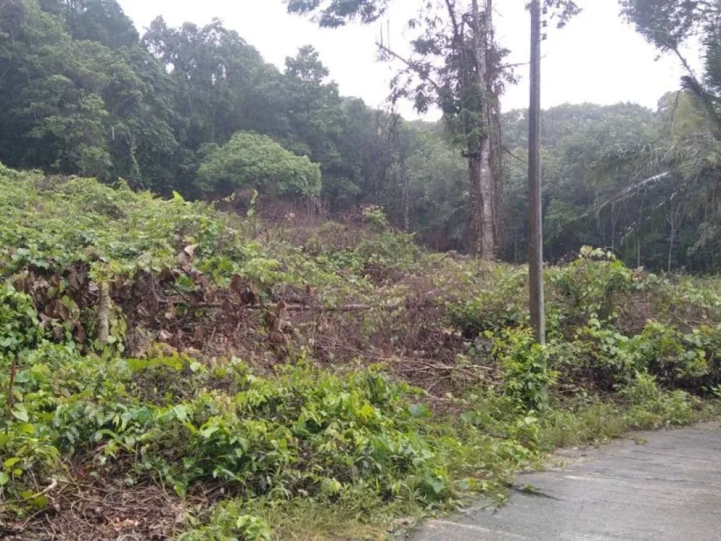
[[[721,541],[721,426],[638,434],[567,454],[564,470],[521,475],[501,509],[434,520],[416,541]],[[645,441],[644,441],[645,440]]]

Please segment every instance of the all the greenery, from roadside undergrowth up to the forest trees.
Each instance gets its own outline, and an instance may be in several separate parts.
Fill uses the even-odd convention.
[[[393,1],[278,0],[334,32]],[[491,0],[418,4],[374,109],[310,46],[0,0],[0,538],[407,538],[721,417],[720,2],[619,0],[685,66],[655,110],[543,111],[545,342],[525,82]]]

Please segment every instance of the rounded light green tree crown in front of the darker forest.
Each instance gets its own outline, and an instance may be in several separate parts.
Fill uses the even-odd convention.
[[[211,145],[198,168],[198,188],[225,196],[257,189],[272,195],[318,195],[320,167],[267,136],[238,132],[224,146]]]

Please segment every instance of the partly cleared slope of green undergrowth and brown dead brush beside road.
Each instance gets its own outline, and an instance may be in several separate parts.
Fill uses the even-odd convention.
[[[9,539],[382,538],[554,447],[718,411],[717,279],[585,248],[546,271],[541,348],[522,267],[425,252],[378,208],[0,190]]]

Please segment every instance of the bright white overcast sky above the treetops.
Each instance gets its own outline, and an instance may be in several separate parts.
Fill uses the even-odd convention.
[[[320,30],[303,17],[289,15],[281,0],[119,0],[142,33],[162,15],[169,25],[190,21],[205,25],[218,17],[260,50],[266,61],[283,69],[286,56],[311,44],[320,53],[343,95],[362,97],[380,107],[389,94],[394,66],[376,61],[376,36],[381,25]],[[501,45],[512,51],[509,63],[528,61],[527,0],[497,0],[495,23]],[[391,45],[402,50],[404,27],[419,0],[395,0],[384,25]],[[655,109],[658,98],[678,89],[681,66],[672,57],[656,61],[657,51],[619,18],[616,0],[579,0],[583,13],[557,30],[549,22],[543,43],[542,105],[594,102],[609,105],[637,102]],[[387,22],[386,22],[387,21]],[[387,30],[384,27],[384,35]],[[396,66],[397,68],[397,66]],[[527,107],[527,69],[519,68],[520,84],[509,87],[503,109]],[[402,105],[407,118],[417,115]],[[428,115],[437,118],[438,113]]]

